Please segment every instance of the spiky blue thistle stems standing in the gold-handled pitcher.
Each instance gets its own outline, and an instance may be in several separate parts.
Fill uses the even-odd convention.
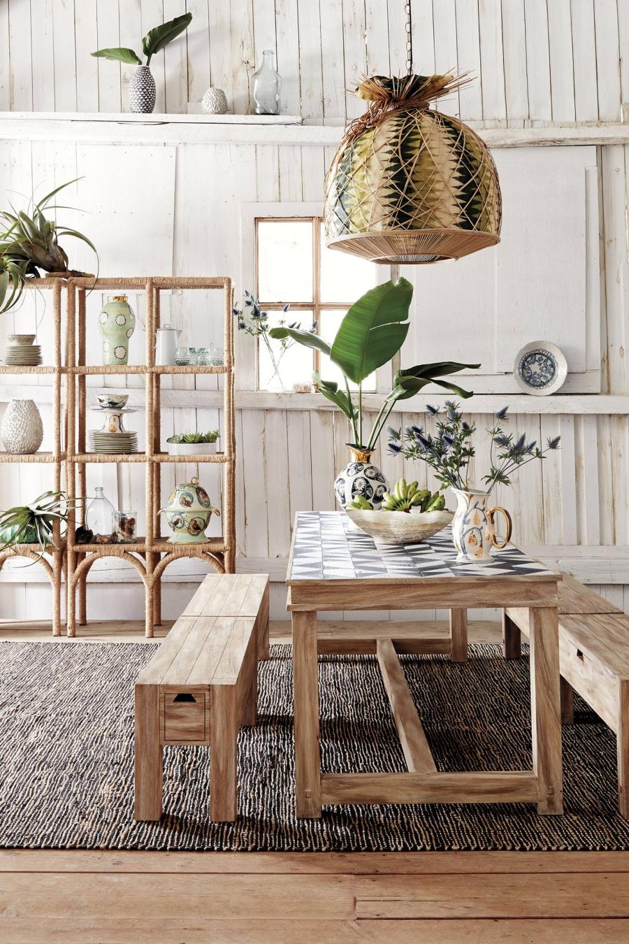
[[[452,400],[446,400],[443,413],[439,407],[430,405],[426,405],[426,413],[436,417],[437,432],[433,435],[421,426],[407,426],[404,432],[389,427],[389,453],[410,460],[421,459],[445,486],[468,488],[468,469],[475,455],[472,445],[475,426],[463,419],[458,404]],[[488,494],[496,483],[510,485],[511,476],[521,465],[543,460],[547,452],[559,448],[560,436],[547,439],[546,447],[540,448],[535,440],[527,443],[525,433],[517,437],[506,433],[501,425],[505,422],[508,423],[507,407],[494,413],[493,426],[487,430],[491,436],[490,468],[483,481]],[[494,456],[496,447],[498,452]]]

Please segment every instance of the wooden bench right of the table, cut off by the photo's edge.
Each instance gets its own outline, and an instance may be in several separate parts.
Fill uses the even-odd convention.
[[[573,720],[578,692],[616,734],[618,797],[629,817],[629,616],[593,590],[563,574],[559,584],[561,718]],[[520,655],[520,631],[528,635],[528,612],[507,609],[503,618],[506,658]]]

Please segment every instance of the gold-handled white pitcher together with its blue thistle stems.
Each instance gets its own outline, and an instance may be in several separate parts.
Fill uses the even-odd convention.
[[[458,551],[458,560],[475,564],[488,563],[492,548],[504,548],[511,537],[511,515],[499,505],[488,507],[488,499],[496,484],[510,485],[511,476],[522,465],[534,460],[543,460],[546,453],[559,448],[560,437],[546,441],[540,448],[535,440],[526,441],[525,433],[505,432],[503,424],[508,422],[507,408],[493,416],[493,425],[488,431],[491,437],[489,448],[489,471],[483,476],[485,488],[469,484],[470,461],[475,455],[473,434],[476,428],[463,419],[458,405],[447,400],[443,411],[439,407],[426,405],[426,413],[435,417],[437,430],[430,433],[421,426],[408,426],[404,432],[389,427],[389,452],[402,455],[407,460],[422,460],[430,465],[435,478],[445,487],[450,486],[456,497],[456,513],[453,522],[453,538]],[[506,537],[501,542],[496,537],[495,515],[505,516]]]

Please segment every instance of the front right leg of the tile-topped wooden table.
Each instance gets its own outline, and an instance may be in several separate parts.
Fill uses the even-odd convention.
[[[531,607],[529,626],[533,770],[538,777],[538,813],[563,813],[556,607]]]

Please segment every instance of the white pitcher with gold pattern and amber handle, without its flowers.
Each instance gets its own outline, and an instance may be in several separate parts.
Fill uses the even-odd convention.
[[[456,496],[452,537],[459,563],[483,564],[491,560],[492,548],[505,548],[511,537],[511,515],[499,505],[488,508],[488,493],[453,488]],[[506,537],[496,537],[495,514],[505,515]]]

